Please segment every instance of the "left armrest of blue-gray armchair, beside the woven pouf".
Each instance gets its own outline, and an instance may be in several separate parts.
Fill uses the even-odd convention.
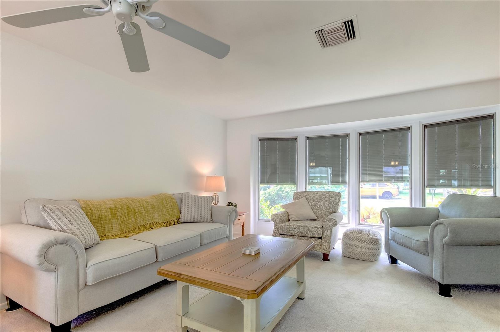
[[[437,207],[384,207],[380,210],[380,220],[384,224],[384,251],[389,252],[390,227],[430,226],[439,218]]]

